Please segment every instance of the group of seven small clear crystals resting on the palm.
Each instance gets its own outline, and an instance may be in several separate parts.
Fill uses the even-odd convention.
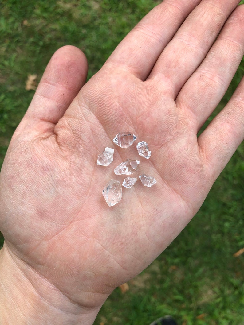
[[[136,136],[130,132],[120,132],[118,133],[113,142],[116,143],[120,148],[128,148],[136,140]],[[151,151],[148,149],[148,144],[144,141],[139,142],[136,146],[140,156],[149,159],[151,156]],[[102,166],[108,166],[113,161],[114,149],[105,148],[105,151],[98,156],[97,164]],[[114,170],[115,175],[131,175],[137,171],[139,166],[139,160],[127,159],[121,162]],[[148,175],[139,176],[142,184],[147,187],[151,187],[156,183],[156,179]],[[123,186],[125,188],[131,188],[137,178],[126,177],[123,181]],[[104,187],[102,191],[107,204],[113,206],[117,204],[122,198],[122,188],[119,181],[111,179],[108,184]]]

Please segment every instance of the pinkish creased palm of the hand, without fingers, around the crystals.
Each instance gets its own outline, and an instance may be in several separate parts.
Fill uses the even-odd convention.
[[[186,109],[192,104],[187,92],[176,98],[176,88],[157,81],[143,82],[109,62],[58,123],[42,117],[30,132],[27,114],[10,145],[1,200],[7,245],[75,302],[84,303],[81,292],[109,294],[141,272],[194,216],[221,169],[210,168],[218,159],[212,159],[210,136],[197,140],[208,113],[197,119]],[[113,169],[139,158],[135,146],[116,147],[111,165],[96,165],[123,131],[148,143],[152,156],[140,159],[140,170],[157,184],[138,182],[108,207],[102,188],[111,178],[123,179]]]

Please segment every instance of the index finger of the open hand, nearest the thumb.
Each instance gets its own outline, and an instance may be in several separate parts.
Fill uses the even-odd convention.
[[[107,60],[145,80],[162,50],[200,0],[164,0],[153,8]]]

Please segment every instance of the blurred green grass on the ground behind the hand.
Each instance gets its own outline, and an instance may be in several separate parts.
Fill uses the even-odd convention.
[[[34,92],[25,90],[28,74],[40,80],[53,52],[62,45],[81,48],[89,77],[124,35],[157,1],[5,0],[0,17],[0,161]],[[218,110],[230,98],[244,61]],[[212,117],[210,117],[209,121]],[[179,324],[244,324],[244,143],[211,189],[202,208],[178,238],[129,291],[116,289],[95,324],[150,324],[174,315]],[[163,234],[162,234],[163,236]],[[0,244],[3,238],[0,237]]]

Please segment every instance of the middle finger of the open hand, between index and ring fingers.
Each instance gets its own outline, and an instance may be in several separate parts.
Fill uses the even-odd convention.
[[[239,0],[203,0],[187,17],[158,58],[149,79],[175,99],[200,65]]]

